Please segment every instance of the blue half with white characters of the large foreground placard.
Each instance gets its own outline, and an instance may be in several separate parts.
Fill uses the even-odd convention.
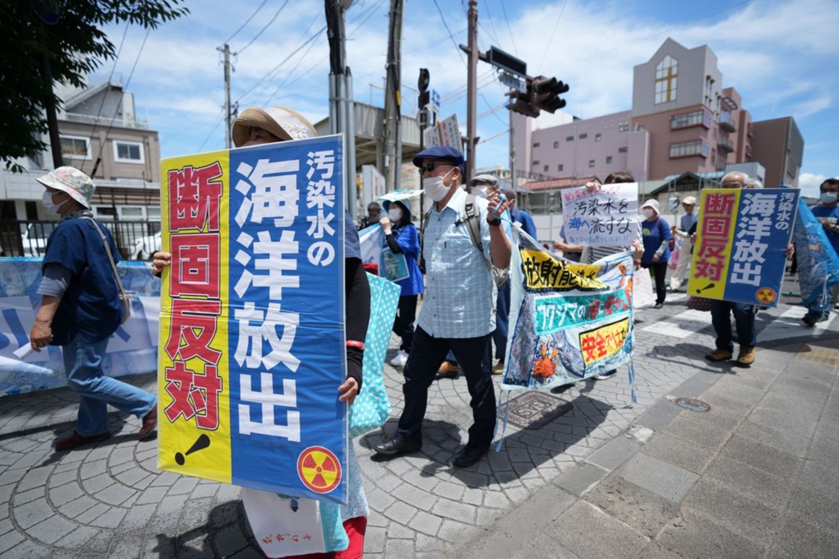
[[[341,136],[231,150],[228,256],[232,483],[341,503],[342,161]]]

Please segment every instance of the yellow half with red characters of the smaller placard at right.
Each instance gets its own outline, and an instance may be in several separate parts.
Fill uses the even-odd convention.
[[[740,189],[702,190],[688,295],[722,301],[737,228]]]

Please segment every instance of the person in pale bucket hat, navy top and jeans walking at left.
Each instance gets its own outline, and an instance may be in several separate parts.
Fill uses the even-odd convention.
[[[76,429],[55,442],[58,451],[104,441],[111,436],[107,405],[143,421],[139,437],[157,425],[157,398],[103,374],[108,339],[122,322],[122,303],[102,235],[119,260],[110,231],[92,217],[96,187],[76,168],[60,167],[40,179],[44,205],[61,216],[47,240],[42,296],[29,333],[32,348],[60,345],[70,390],[79,394]]]

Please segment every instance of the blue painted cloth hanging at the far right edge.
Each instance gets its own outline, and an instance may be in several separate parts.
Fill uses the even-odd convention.
[[[830,310],[833,286],[839,283],[839,256],[824,227],[802,199],[798,201],[795,221],[795,257],[802,304],[822,313]]]

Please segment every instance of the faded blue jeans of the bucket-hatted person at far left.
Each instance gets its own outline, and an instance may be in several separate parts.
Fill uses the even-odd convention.
[[[145,417],[157,405],[157,398],[149,392],[102,373],[107,342],[107,338],[86,342],[77,335],[61,347],[67,384],[80,396],[76,432],[84,437],[108,431],[108,404],[137,417]]]

